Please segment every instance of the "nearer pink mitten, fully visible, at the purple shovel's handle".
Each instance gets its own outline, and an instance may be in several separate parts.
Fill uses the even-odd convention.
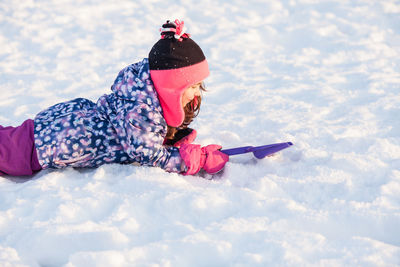
[[[194,144],[183,144],[179,153],[187,167],[185,175],[198,173],[203,168],[207,173],[219,172],[229,160],[229,156],[219,151],[219,145],[201,147]]]

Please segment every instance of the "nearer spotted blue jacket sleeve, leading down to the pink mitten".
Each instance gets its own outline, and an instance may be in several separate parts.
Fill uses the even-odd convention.
[[[160,167],[168,172],[182,172],[183,161],[176,147],[163,145],[165,132],[162,115],[150,105],[140,103],[120,114],[117,129],[125,152],[141,165]]]

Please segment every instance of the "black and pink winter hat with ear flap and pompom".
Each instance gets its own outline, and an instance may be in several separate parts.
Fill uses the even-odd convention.
[[[184,22],[167,21],[161,39],[149,53],[150,76],[158,93],[164,119],[178,127],[185,119],[181,101],[186,88],[203,81],[210,73],[200,47],[185,33]]]

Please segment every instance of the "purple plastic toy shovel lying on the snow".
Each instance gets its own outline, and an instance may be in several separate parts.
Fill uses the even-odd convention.
[[[243,146],[243,147],[223,149],[223,150],[221,150],[221,152],[223,152],[229,156],[253,152],[253,155],[256,158],[262,159],[268,155],[274,154],[274,153],[281,151],[282,149],[288,148],[292,145],[293,145],[292,142],[285,142],[285,143],[276,143],[276,144],[270,144],[270,145],[264,145],[264,146]]]

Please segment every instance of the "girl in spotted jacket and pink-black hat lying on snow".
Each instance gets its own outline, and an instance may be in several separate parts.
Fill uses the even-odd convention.
[[[112,93],[43,110],[18,127],[0,126],[0,174],[137,163],[185,175],[221,170],[221,146],[191,144],[208,64],[184,23],[167,21],[149,57],[121,70]]]

